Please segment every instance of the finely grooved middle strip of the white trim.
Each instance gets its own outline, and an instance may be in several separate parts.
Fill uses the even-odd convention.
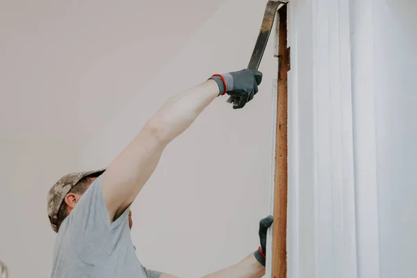
[[[313,13],[316,274],[357,277],[350,7],[317,0]]]

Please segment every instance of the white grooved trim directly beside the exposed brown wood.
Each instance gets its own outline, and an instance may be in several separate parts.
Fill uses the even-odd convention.
[[[290,29],[290,76],[295,85],[289,92],[288,124],[293,126],[288,127],[293,134],[288,142],[288,186],[294,185],[291,190],[295,190],[289,195],[288,208],[293,213],[289,217],[297,220],[290,220],[288,229],[296,237],[289,246],[297,251],[288,251],[288,277],[306,277],[307,268],[309,277],[354,278],[357,243],[349,1],[297,0],[291,8],[291,17],[296,17],[291,19]],[[309,218],[313,223],[307,229],[313,236],[302,227]]]

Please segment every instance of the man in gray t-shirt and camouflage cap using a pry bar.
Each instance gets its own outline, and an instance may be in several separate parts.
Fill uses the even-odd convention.
[[[105,170],[68,174],[49,190],[48,215],[58,233],[51,270],[53,278],[175,278],[143,268],[131,242],[130,206],[167,144],[185,131],[220,95],[231,96],[233,108],[252,100],[261,72],[241,70],[215,74],[176,95],[142,127]],[[240,263],[206,278],[262,277],[266,230],[272,216],[261,220],[261,247]]]

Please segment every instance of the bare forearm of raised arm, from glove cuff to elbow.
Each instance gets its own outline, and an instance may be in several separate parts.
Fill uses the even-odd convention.
[[[168,143],[185,131],[219,95],[218,84],[208,80],[168,99],[147,123],[161,142]]]

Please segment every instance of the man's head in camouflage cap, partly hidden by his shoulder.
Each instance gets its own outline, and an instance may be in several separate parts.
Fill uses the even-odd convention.
[[[70,214],[81,196],[105,169],[71,173],[57,181],[48,193],[48,216],[51,227],[58,233],[60,224]],[[129,227],[132,226],[129,212]]]

